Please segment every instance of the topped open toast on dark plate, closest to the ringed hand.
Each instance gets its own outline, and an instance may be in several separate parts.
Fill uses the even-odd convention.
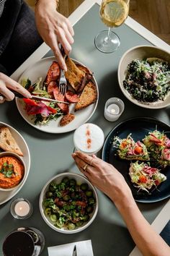
[[[138,189],[148,190],[152,187],[158,187],[161,182],[166,180],[166,176],[161,174],[158,168],[153,168],[147,163],[130,163],[129,175],[131,182]]]

